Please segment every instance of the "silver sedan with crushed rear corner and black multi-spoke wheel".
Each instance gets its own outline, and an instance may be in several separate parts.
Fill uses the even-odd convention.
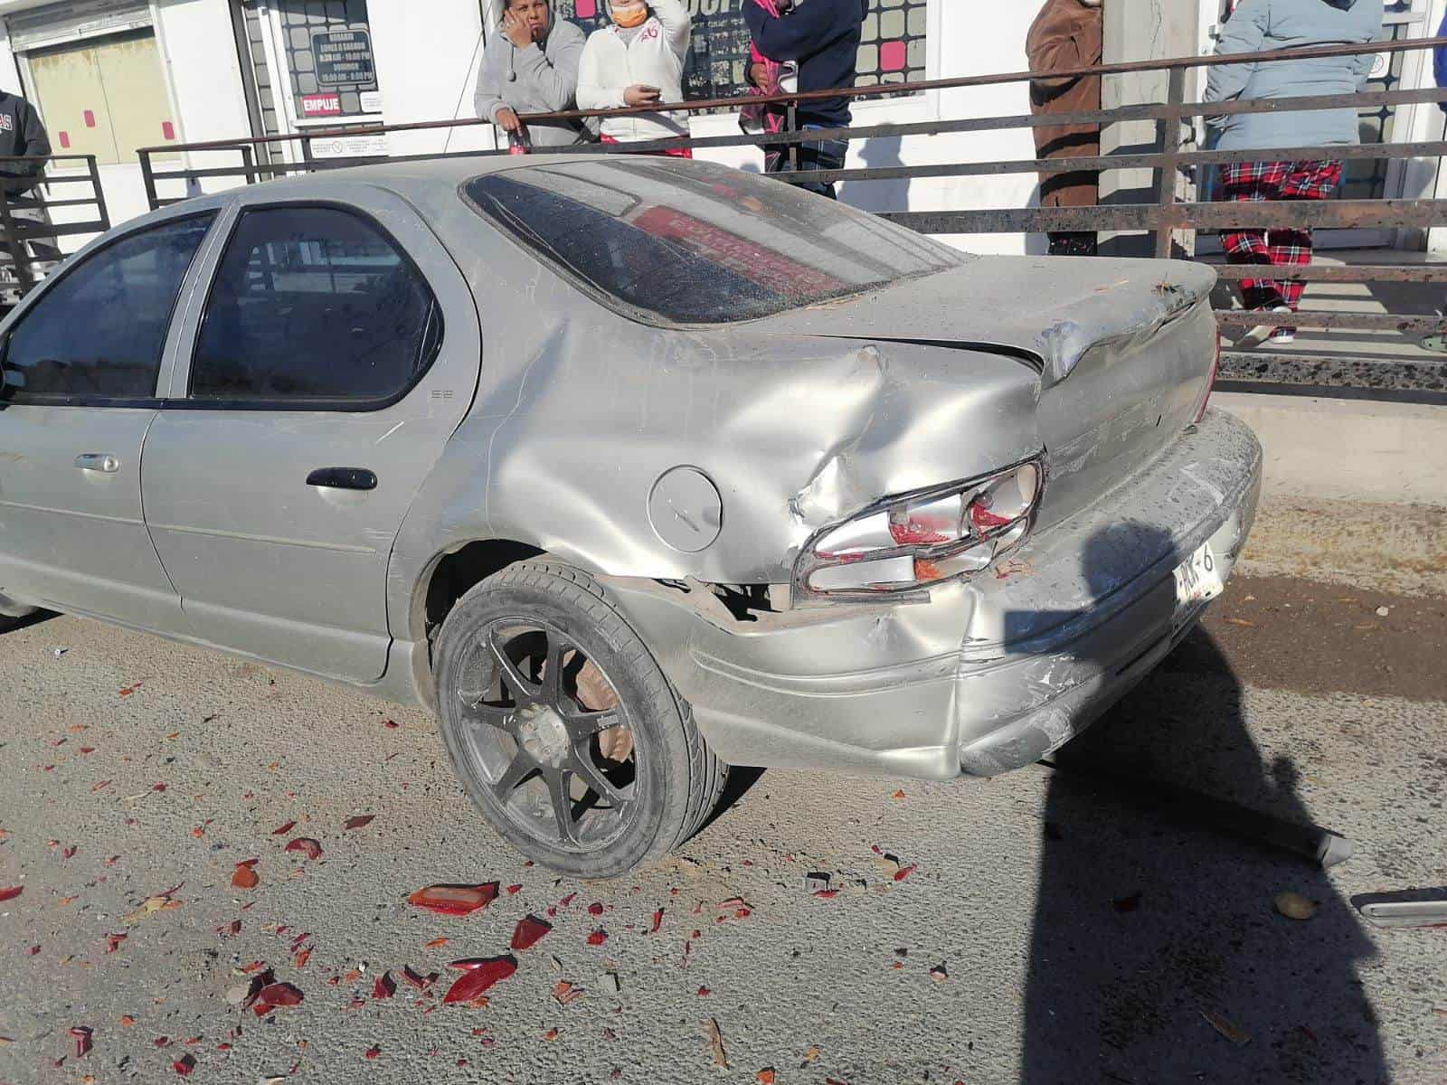
[[[498,832],[585,877],[728,765],[993,775],[1244,545],[1211,285],[660,158],[188,200],[0,326],[0,613],[433,706]]]

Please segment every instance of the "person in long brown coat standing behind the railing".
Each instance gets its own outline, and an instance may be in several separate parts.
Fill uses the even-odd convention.
[[[1104,54],[1101,0],[1046,0],[1026,39],[1030,71],[1052,72],[1091,68]],[[1030,111],[1092,113],[1100,109],[1100,77],[1039,78],[1030,81]],[[1042,124],[1035,129],[1039,158],[1095,158],[1100,124]],[[1075,171],[1040,175],[1040,207],[1094,207],[1100,174]],[[1095,233],[1051,233],[1052,256],[1094,256]]]

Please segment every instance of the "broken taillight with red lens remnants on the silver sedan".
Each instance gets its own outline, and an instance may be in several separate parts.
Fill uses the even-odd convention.
[[[794,566],[794,599],[907,599],[1019,548],[1040,505],[1039,459],[971,482],[887,498],[825,528]]]

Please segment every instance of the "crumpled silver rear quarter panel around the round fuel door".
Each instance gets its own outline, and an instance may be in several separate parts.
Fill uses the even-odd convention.
[[[1040,451],[1039,375],[1019,359],[787,334],[768,321],[647,327],[460,201],[428,213],[476,292],[482,382],[398,540],[394,615],[408,613],[437,554],[478,538],[609,576],[784,583],[815,531],[870,502]],[[677,466],[722,496],[719,538],[696,554],[648,521],[655,480]]]

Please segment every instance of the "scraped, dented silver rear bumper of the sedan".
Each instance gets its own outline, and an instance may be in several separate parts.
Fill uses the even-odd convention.
[[[1213,411],[1004,569],[928,605],[738,621],[706,589],[612,580],[715,752],[731,764],[946,780],[1040,760],[1189,631],[1175,569],[1229,577],[1260,493],[1252,431]]]

